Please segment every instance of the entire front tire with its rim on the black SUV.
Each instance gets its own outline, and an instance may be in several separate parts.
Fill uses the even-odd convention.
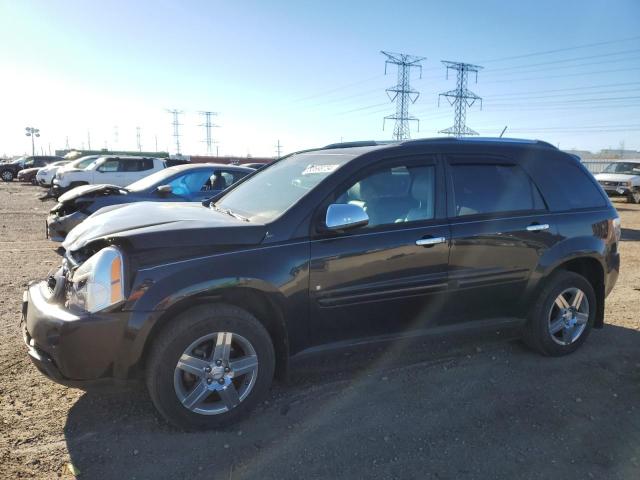
[[[231,337],[226,337],[226,332]],[[209,336],[212,338],[205,343],[198,343]],[[216,366],[216,358],[213,358],[219,356],[214,354],[217,351],[216,342],[222,343],[227,338],[231,338],[231,356],[227,354],[230,361]],[[194,345],[196,347],[191,349]],[[253,349],[255,357],[251,352],[247,354],[249,347]],[[187,353],[189,356],[185,357]],[[240,358],[251,362],[257,359],[255,371],[235,375],[234,369],[230,373],[222,373],[221,369],[225,366],[233,366],[234,355],[236,365]],[[182,362],[185,358],[188,364],[184,365],[189,368],[178,368],[178,360]],[[221,358],[225,358],[224,353]],[[209,365],[202,370],[209,368],[210,373],[201,371],[200,367],[205,363],[200,362]],[[224,369],[224,372],[228,370]],[[184,430],[202,430],[224,427],[247,415],[269,391],[274,370],[274,348],[264,326],[241,308],[209,304],[178,315],[156,337],[147,363],[146,382],[153,404],[169,423]],[[198,376],[192,371],[197,371]],[[220,375],[224,377],[216,380]],[[220,385],[221,379],[227,384]],[[206,382],[209,382],[208,386]],[[228,385],[229,382],[231,385]],[[199,395],[200,391],[204,396]],[[225,400],[218,393],[220,391],[235,391],[237,395],[225,393],[225,397],[229,395],[233,401],[229,397]],[[202,400],[185,406],[193,398]]]

